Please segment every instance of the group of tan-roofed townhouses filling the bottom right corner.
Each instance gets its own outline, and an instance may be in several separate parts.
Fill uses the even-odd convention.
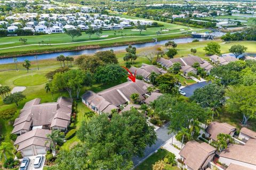
[[[189,141],[179,153],[184,167],[188,170],[255,170],[256,132],[242,128],[236,136],[236,130],[235,126],[228,123],[210,123],[205,129],[209,143],[217,141],[217,135],[220,133],[229,134],[235,143],[229,143],[227,149],[217,151],[209,143]]]

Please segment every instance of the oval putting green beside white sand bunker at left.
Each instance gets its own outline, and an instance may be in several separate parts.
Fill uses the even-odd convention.
[[[32,74],[24,77],[20,77],[14,80],[13,84],[16,86],[36,86],[43,84],[47,81],[45,75],[43,74]]]

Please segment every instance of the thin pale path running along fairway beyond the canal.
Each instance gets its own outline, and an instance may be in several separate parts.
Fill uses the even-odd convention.
[[[189,28],[192,31],[194,29]],[[203,30],[203,29],[196,29],[196,30]],[[176,33],[182,33],[182,32],[188,32],[188,31],[180,31],[180,32],[172,32],[172,33],[164,33],[161,34],[161,36],[165,35],[172,35]],[[66,45],[66,44],[77,44],[77,43],[89,43],[89,42],[96,42],[96,41],[107,41],[107,40],[113,40],[113,39],[119,39],[119,38],[135,38],[135,37],[151,37],[151,36],[158,36],[158,35],[147,35],[147,36],[122,36],[122,37],[115,37],[115,38],[108,38],[108,39],[99,39],[99,40],[87,40],[87,41],[79,41],[79,42],[72,42],[72,43],[57,43],[57,44],[51,44],[52,45]],[[13,46],[13,47],[5,47],[5,48],[0,48],[0,49],[9,49],[9,48],[18,48],[18,47],[26,47],[26,46],[38,46],[38,44],[28,44],[28,45],[23,45],[23,46]],[[47,46],[47,44],[41,45],[41,46]]]

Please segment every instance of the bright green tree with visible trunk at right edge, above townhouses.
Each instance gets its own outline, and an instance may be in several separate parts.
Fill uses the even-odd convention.
[[[241,114],[243,126],[246,126],[249,118],[256,117],[255,95],[256,86],[230,86],[226,90],[227,110],[230,113]]]

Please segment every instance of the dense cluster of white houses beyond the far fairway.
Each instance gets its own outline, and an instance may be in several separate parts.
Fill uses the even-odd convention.
[[[87,30],[102,28],[102,30],[119,30],[132,27],[140,23],[141,25],[152,25],[153,21],[134,20],[121,18],[120,16],[109,16],[106,14],[87,14],[83,12],[75,14],[37,14],[23,13],[7,16],[6,21],[0,21],[0,24],[7,25],[9,32],[14,32],[18,28],[42,33],[62,33],[69,29]],[[7,22],[14,21],[14,22]],[[25,27],[21,24],[25,21]]]

